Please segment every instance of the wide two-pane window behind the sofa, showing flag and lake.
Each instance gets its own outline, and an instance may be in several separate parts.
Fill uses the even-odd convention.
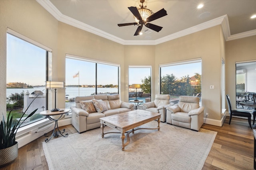
[[[118,64],[66,56],[66,108],[74,105],[76,96],[118,94],[119,69]]]

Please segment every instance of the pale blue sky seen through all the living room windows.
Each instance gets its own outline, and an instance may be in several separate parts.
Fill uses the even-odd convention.
[[[7,34],[7,83],[23,82],[32,86],[45,84],[46,51]],[[29,69],[27,69],[29,66]],[[98,84],[118,84],[118,68],[106,64],[98,64]],[[79,78],[73,78],[78,73]],[[129,84],[141,84],[141,80],[150,76],[150,68],[130,68]],[[174,74],[177,78],[194,73],[201,74],[201,63],[181,64],[162,67],[162,75]],[[95,84],[95,63],[66,59],[66,85]],[[127,75],[128,76],[128,75]]]

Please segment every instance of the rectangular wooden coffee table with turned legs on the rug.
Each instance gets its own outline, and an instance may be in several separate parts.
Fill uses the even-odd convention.
[[[125,113],[120,113],[116,115],[111,115],[107,117],[100,118],[101,128],[102,128],[102,138],[107,133],[122,133],[122,150],[130,143],[130,133],[138,129],[158,129],[160,130],[160,113],[154,113],[146,110],[133,110]],[[144,125],[150,121],[156,120],[158,122],[158,127],[156,128],[139,128],[140,125]],[[113,129],[118,130],[119,132],[107,132],[104,133],[104,127],[109,126]],[[136,129],[135,129],[136,128]],[[126,143],[124,143],[126,133]]]

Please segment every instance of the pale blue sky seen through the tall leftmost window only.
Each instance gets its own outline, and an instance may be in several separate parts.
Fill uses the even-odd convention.
[[[7,34],[7,56],[7,83],[21,82],[32,86],[45,84],[44,49]]]

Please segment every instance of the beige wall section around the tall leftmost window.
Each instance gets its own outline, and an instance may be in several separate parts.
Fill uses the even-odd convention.
[[[58,51],[58,21],[38,2],[0,0],[0,114],[6,113],[7,27],[51,48],[54,56],[57,56]],[[58,61],[54,59],[53,64],[56,63]]]

